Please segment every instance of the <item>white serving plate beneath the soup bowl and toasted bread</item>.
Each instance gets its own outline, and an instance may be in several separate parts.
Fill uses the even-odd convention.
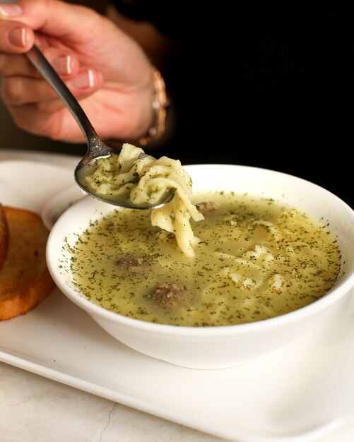
[[[76,160],[63,156],[63,164]],[[72,186],[72,169],[0,162],[4,205],[42,213]],[[0,323],[0,360],[230,441],[314,442],[354,424],[354,301],[344,301],[344,316],[338,303],[286,347],[204,371],[129,349],[54,289],[33,311]]]

